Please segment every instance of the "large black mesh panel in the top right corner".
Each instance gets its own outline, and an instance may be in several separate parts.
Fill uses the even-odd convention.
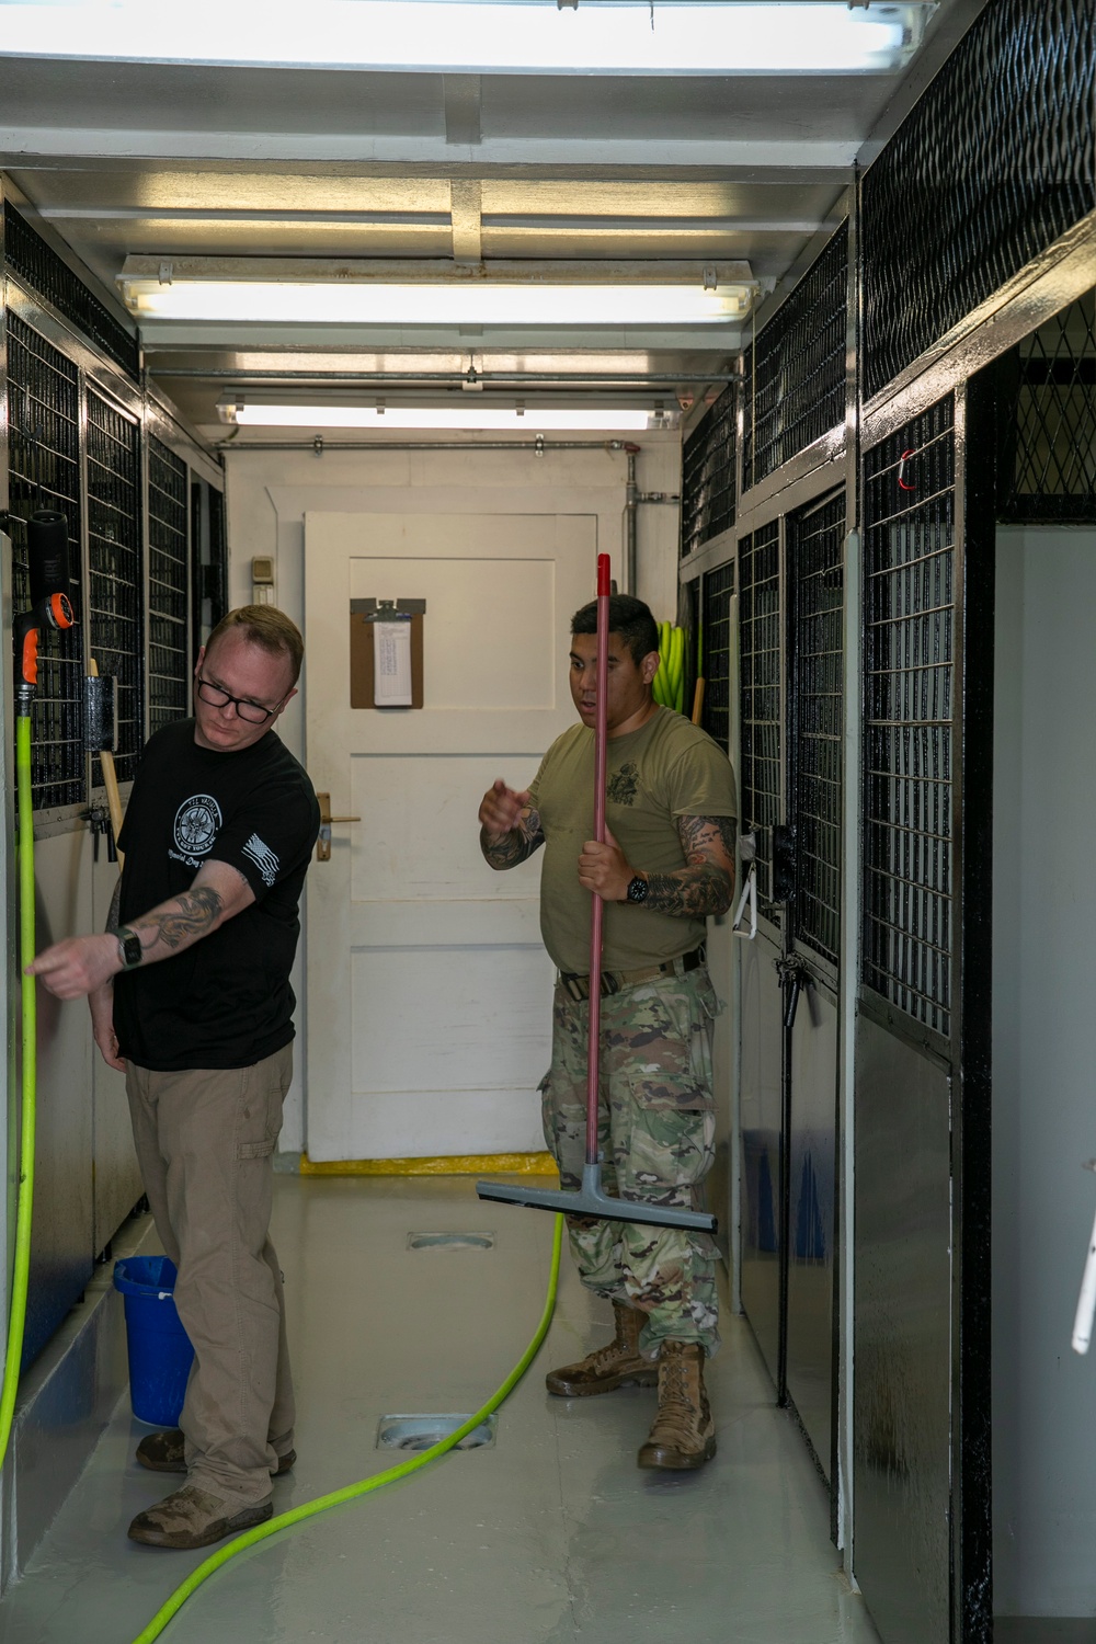
[[[1093,0],[994,0],[863,181],[871,396],[1093,210]]]

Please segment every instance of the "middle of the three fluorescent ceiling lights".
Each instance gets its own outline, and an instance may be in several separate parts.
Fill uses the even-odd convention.
[[[388,265],[391,270],[391,265]],[[621,265],[577,271],[419,265],[403,279],[375,263],[128,256],[118,286],[138,321],[246,326],[726,326],[754,299],[748,263]],[[652,276],[654,271],[654,278]]]

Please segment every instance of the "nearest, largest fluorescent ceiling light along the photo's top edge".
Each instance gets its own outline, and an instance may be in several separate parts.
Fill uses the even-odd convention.
[[[0,0],[0,56],[467,74],[863,74],[935,3],[848,0]],[[652,26],[654,23],[654,26]]]

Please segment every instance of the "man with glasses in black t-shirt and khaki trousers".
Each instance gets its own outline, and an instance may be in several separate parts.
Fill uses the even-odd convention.
[[[273,1152],[292,1077],[297,904],[319,807],[273,725],[301,671],[294,623],[230,612],[199,654],[194,718],[145,748],[105,935],[30,967],[87,995],[95,1042],[125,1070],[133,1138],[174,1299],[194,1345],[181,1427],[138,1460],[186,1485],[130,1526],[204,1547],[273,1512],[292,1466],[292,1381],[269,1241]],[[117,980],[115,980],[117,978]]]

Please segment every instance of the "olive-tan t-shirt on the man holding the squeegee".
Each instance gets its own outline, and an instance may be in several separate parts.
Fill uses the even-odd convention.
[[[593,838],[593,730],[572,725],[552,743],[529,789],[544,829],[541,932],[560,970],[590,970],[590,891],[578,857]],[[685,866],[675,817],[738,814],[735,773],[718,743],[670,709],[608,743],[605,820],[633,868]],[[703,919],[672,919],[642,904],[606,903],[606,970],[641,970],[703,942]]]

